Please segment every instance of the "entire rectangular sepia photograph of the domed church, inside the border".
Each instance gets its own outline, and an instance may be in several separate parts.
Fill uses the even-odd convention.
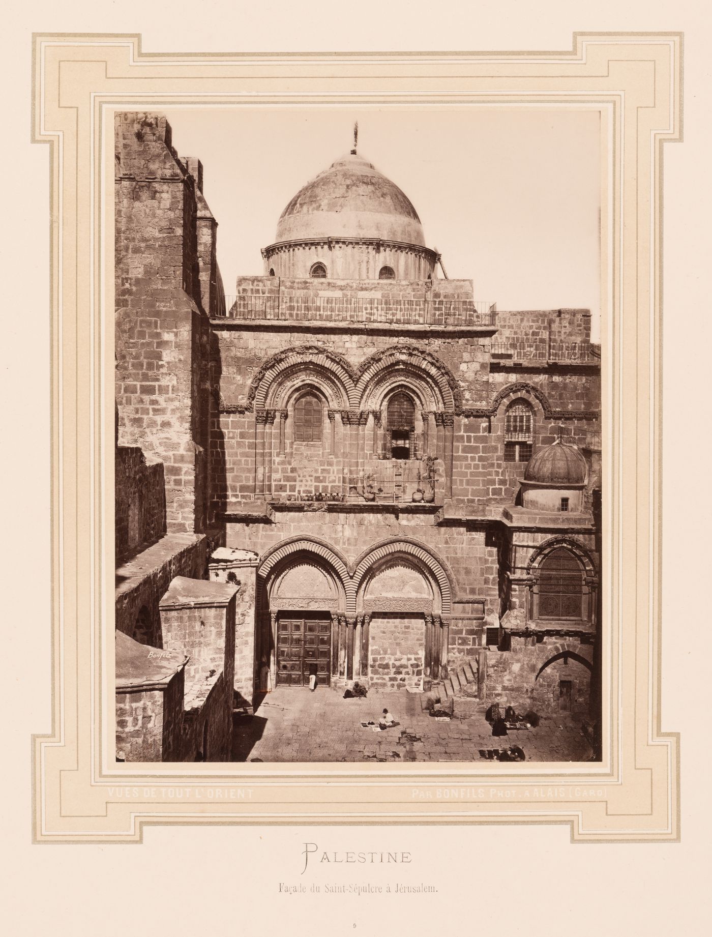
[[[600,121],[115,113],[117,763],[601,761]]]

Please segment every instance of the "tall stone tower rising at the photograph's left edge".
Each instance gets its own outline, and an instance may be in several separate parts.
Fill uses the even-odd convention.
[[[117,114],[115,171],[119,442],[164,463],[167,529],[200,531],[208,317],[200,308],[195,182],[171,148],[166,118],[156,114]]]

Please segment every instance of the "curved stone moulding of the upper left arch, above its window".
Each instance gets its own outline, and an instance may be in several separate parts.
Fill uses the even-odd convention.
[[[345,358],[316,345],[302,345],[293,349],[279,351],[269,358],[252,379],[248,405],[256,409],[267,407],[268,398],[274,397],[274,388],[280,386],[282,375],[304,373],[308,369],[332,388],[339,388],[339,398],[345,406],[355,406],[358,399],[355,394],[354,376]],[[272,392],[272,394],[271,394]]]

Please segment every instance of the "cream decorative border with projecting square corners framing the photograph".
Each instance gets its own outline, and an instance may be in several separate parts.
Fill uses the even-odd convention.
[[[662,143],[681,140],[682,37],[577,34],[569,52],[172,54],[37,35],[51,155],[52,733],[38,842],[147,824],[569,824],[675,841],[678,736],[660,731]],[[601,114],[600,763],[117,764],[113,739],[113,115],[176,105],[586,108]]]

